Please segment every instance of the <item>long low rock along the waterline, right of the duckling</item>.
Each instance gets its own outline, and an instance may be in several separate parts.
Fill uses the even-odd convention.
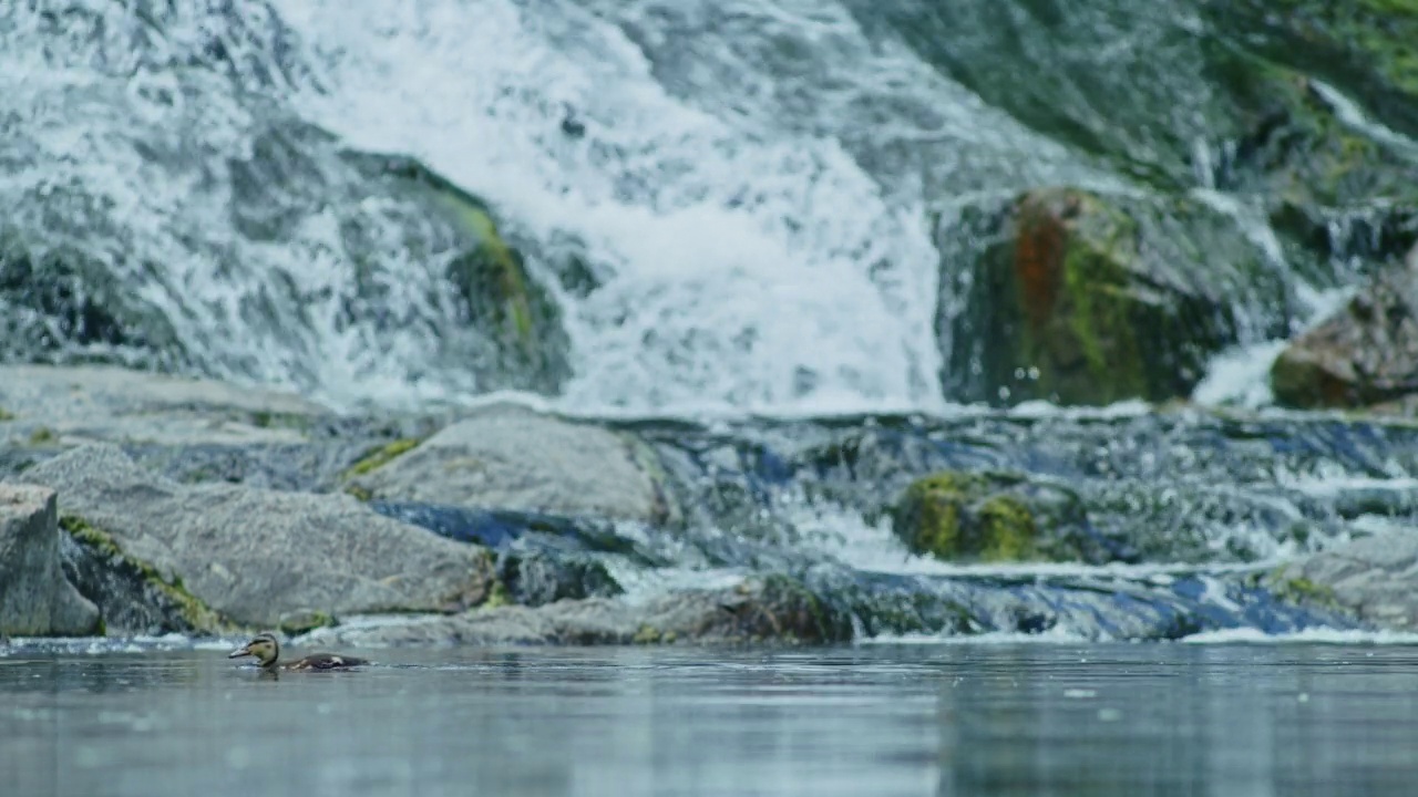
[[[503,606],[452,617],[352,623],[311,634],[320,645],[842,642],[851,618],[787,576],[683,590],[638,606],[611,598]]]

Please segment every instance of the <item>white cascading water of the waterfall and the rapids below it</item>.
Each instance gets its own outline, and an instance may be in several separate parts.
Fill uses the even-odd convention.
[[[1159,451],[1133,457],[1133,442],[1085,428],[1130,423],[1126,407],[1071,416],[1031,406],[983,421],[990,428],[970,428],[970,411],[940,413],[954,398],[942,373],[967,367],[950,362],[940,323],[968,309],[967,286],[954,281],[980,241],[964,220],[1022,190],[1075,186],[1146,201],[1163,184],[1167,196],[1197,200],[1285,275],[1300,322],[1333,306],[1339,294],[1326,291],[1354,277],[1296,274],[1263,208],[1218,177],[1235,157],[1236,130],[1210,126],[1215,31],[1185,9],[1139,9],[1052,20],[1031,16],[1038,9],[1028,3],[946,10],[927,0],[891,10],[847,0],[13,3],[0,9],[0,244],[23,248],[26,262],[60,258],[69,271],[52,296],[16,301],[0,281],[0,355],[50,356],[72,340],[54,359],[156,359],[337,407],[418,408],[509,384],[535,390],[484,381],[471,367],[492,359],[493,346],[465,323],[450,285],[457,252],[398,197],[354,193],[357,174],[342,160],[342,149],[408,155],[486,200],[552,294],[569,340],[570,373],[545,390],[557,408],[960,417],[959,427],[913,433],[929,448],[912,461],[919,472],[893,462],[889,478],[832,478],[899,492],[946,467],[1046,474],[1082,485],[1102,506],[1099,525],[1115,526],[1103,532],[1134,530],[1124,526],[1151,512],[1195,546],[1185,557],[1174,547],[1171,560],[1141,553],[1106,570],[942,564],[892,536],[881,516],[889,498],[813,499],[818,471],[852,468],[797,445],[797,481],[763,488],[773,501],[752,508],[790,533],[752,540],[760,547],[718,563],[725,569],[778,559],[797,567],[807,557],[801,570],[915,579],[916,594],[966,601],[957,576],[1106,576],[1143,590],[1212,567],[1187,589],[1222,606],[1234,596],[1207,581],[1217,572],[1344,535],[1351,518],[1300,478],[1310,459],[1293,474],[1272,471],[1283,455],[1276,447],[1259,464],[1207,471],[1191,448],[1239,462],[1254,452],[1227,435],[1251,431],[1202,428],[1210,438],[1190,440],[1188,423],[1139,420],[1133,433]],[[1062,26],[1065,47],[1021,33],[1018,52],[991,60],[994,40],[977,35],[1038,26]],[[1066,45],[1069,37],[1081,44]],[[1054,57],[1059,75],[1082,72],[1096,85],[1055,81],[1045,68]],[[1000,78],[1011,58],[1049,79]],[[1130,72],[1144,61],[1147,69]],[[1166,129],[1115,125],[1100,94]],[[1346,123],[1411,146],[1334,89],[1322,95]],[[1168,153],[1173,145],[1187,155]],[[306,183],[319,190],[302,193]],[[580,284],[562,271],[566,248]],[[1265,332],[1276,311],[1232,299],[1241,347],[1215,360],[1197,397],[1262,406],[1279,350]],[[84,309],[65,316],[55,309],[64,302]],[[140,338],[123,333],[135,326]],[[1044,433],[1031,427],[1039,418]],[[970,435],[984,442],[961,452]],[[1051,435],[1075,435],[1076,450],[1062,452]],[[1168,435],[1185,440],[1173,448]],[[859,442],[841,437],[844,447]],[[1307,455],[1343,458],[1350,448],[1322,440]],[[1098,465],[1109,457],[1123,464]],[[1154,468],[1159,459],[1174,468]],[[681,475],[702,485],[725,472],[735,468]],[[1409,489],[1408,472],[1373,465],[1364,450],[1336,478],[1377,479],[1363,489],[1385,492]],[[1276,488],[1282,476],[1296,478]],[[750,486],[754,478],[743,476]],[[698,530],[725,530],[712,520]],[[718,540],[685,545],[699,543],[709,550]],[[722,574],[700,564],[699,581]],[[652,591],[659,574],[623,580],[645,577]],[[1102,591],[1092,581],[1079,591],[1089,590]],[[1062,614],[1092,611],[1069,600],[1059,598]]]

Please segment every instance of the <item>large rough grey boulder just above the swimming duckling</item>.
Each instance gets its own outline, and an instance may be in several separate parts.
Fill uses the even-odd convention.
[[[61,491],[65,515],[125,557],[242,625],[305,611],[445,611],[481,603],[491,583],[484,549],[347,495],[180,485],[112,445],[75,448],[27,476]]]

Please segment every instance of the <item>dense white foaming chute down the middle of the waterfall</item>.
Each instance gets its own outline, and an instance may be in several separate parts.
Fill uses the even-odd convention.
[[[934,403],[920,197],[886,196],[834,138],[671,95],[621,24],[570,3],[279,6],[328,57],[329,94],[301,99],[325,126],[427,160],[532,237],[587,243],[605,282],[559,296],[563,406]],[[560,132],[563,104],[584,139]]]

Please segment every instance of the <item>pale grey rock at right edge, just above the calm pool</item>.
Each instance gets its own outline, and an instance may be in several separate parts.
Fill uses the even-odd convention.
[[[1333,604],[1384,628],[1418,628],[1418,535],[1390,532],[1285,566],[1271,577],[1282,596]]]

